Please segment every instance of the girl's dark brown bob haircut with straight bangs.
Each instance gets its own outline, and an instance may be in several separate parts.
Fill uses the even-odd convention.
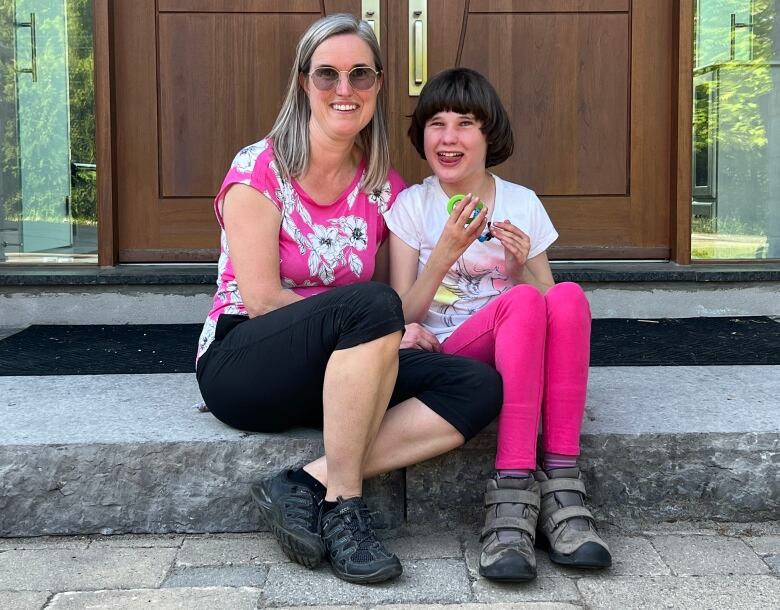
[[[417,101],[409,139],[425,159],[425,124],[439,112],[473,114],[487,140],[485,167],[503,163],[515,148],[512,125],[498,93],[488,79],[469,68],[450,68],[430,79]]]

